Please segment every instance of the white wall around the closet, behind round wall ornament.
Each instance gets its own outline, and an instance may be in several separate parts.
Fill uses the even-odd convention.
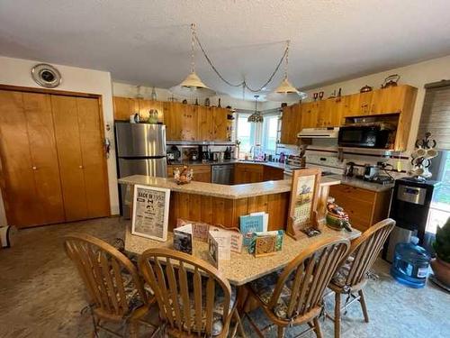
[[[30,70],[39,61],[28,59],[12,59],[0,56],[0,84],[22,87],[40,87],[31,78]],[[89,94],[98,94],[103,99],[103,122],[111,125],[108,132],[104,129],[105,137],[111,142],[114,141],[113,135],[113,115],[112,115],[112,81],[111,74],[105,71],[93,69],[80,69],[54,65],[62,76],[62,83],[56,90],[67,90],[71,92],[83,92]],[[41,88],[41,87],[40,87]],[[107,160],[109,190],[112,215],[119,214],[119,197],[117,191],[117,175],[114,146],[112,144],[112,153]],[[1,196],[0,196],[1,199]],[[0,224],[4,224],[4,207],[0,200]]]

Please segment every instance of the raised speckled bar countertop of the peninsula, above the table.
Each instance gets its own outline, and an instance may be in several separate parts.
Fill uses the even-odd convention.
[[[247,198],[252,196],[263,196],[281,194],[291,191],[291,179],[281,179],[258,183],[238,184],[234,186],[192,181],[189,184],[177,185],[174,178],[156,178],[145,175],[133,175],[120,178],[119,183],[126,185],[143,185],[149,187],[165,187],[172,191],[199,194],[203,196],[215,196],[229,199]],[[322,178],[320,186],[337,185],[340,181],[334,178]]]

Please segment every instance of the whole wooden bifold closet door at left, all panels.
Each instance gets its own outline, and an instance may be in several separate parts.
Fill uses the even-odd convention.
[[[0,171],[8,224],[110,215],[98,100],[0,90]]]

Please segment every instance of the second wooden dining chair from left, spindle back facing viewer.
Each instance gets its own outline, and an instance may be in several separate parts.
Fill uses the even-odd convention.
[[[245,337],[237,310],[236,289],[218,269],[192,255],[166,248],[148,249],[139,257],[139,270],[154,290],[162,333],[175,337]]]

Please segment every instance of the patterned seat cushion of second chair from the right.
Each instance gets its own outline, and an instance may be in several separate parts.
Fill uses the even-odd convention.
[[[260,279],[252,281],[249,285],[255,295],[257,295],[261,302],[266,305],[274,294],[279,275],[280,271],[275,271]],[[288,282],[284,285],[280,297],[278,297],[278,301],[274,307],[274,313],[280,319],[287,319],[287,308],[291,300],[292,290],[287,285],[291,285],[291,283]]]

